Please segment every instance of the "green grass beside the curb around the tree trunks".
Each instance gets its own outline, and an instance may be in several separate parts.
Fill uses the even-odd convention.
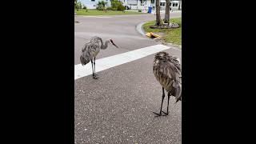
[[[143,29],[146,33],[164,33],[165,36],[162,39],[165,42],[182,45],[182,18],[171,18],[170,22],[177,22],[180,27],[174,29],[151,29],[150,26],[154,26],[155,21],[150,21],[143,25]]]

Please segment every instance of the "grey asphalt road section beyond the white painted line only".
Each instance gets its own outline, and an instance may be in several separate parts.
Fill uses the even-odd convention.
[[[170,18],[177,17],[181,17],[181,13],[170,13]],[[161,18],[164,18],[163,15]],[[159,42],[155,42],[152,39],[143,38],[136,30],[136,26],[140,22],[154,19],[154,14],[115,15],[102,18],[75,16],[74,20],[79,23],[74,23],[74,64],[80,63],[79,56],[82,46],[94,35],[98,35],[103,41],[107,38],[112,38],[121,48],[117,50],[114,46],[109,46],[106,50],[102,50],[97,58],[105,58],[114,54],[158,44]]]

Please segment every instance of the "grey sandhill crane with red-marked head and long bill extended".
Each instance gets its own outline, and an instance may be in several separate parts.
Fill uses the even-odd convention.
[[[90,38],[90,41],[86,42],[86,45],[82,48],[80,61],[82,63],[82,66],[86,65],[88,62],[91,62],[94,79],[98,78],[95,74],[95,58],[101,49],[105,50],[107,48],[109,43],[116,46],[112,39],[108,39],[105,43],[103,43],[102,38],[94,36],[93,38]],[[116,47],[118,48],[118,46]]]

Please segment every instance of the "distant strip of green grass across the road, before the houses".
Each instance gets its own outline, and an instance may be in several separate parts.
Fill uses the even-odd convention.
[[[106,10],[102,11],[102,10],[74,10],[75,13],[77,13],[78,15],[120,15],[120,14],[145,14],[145,13],[138,13],[138,12],[133,12],[133,11],[118,11],[118,10]]]

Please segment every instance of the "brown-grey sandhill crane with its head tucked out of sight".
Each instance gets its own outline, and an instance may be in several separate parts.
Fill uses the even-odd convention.
[[[162,85],[162,102],[165,98],[165,90],[168,92],[167,112],[162,111],[156,117],[169,114],[170,95],[176,98],[176,102],[182,100],[182,66],[178,58],[173,57],[166,52],[159,52],[154,56],[153,73],[158,82]],[[176,103],[175,102],[175,103]]]

